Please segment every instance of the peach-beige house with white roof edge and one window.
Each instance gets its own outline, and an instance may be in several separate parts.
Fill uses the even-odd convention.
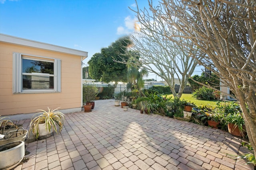
[[[0,34],[0,115],[25,119],[48,107],[81,111],[82,61],[87,55]]]

